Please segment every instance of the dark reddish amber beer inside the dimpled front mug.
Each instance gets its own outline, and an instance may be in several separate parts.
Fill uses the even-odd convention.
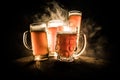
[[[56,52],[60,59],[71,58],[76,50],[77,45],[77,33],[76,32],[58,32]]]

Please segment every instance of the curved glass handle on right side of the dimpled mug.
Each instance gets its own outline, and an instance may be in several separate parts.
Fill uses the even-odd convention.
[[[77,50],[77,53],[74,55],[74,58],[79,57],[85,51],[85,48],[87,45],[86,35],[84,33],[81,33],[81,36],[83,37],[83,45],[79,51]],[[77,47],[79,47],[79,46],[77,46]]]

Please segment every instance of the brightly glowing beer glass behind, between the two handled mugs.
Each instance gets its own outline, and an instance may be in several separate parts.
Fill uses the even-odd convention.
[[[62,30],[62,20],[50,20],[47,24],[47,37],[49,47],[49,57],[57,57],[55,51],[57,31]]]

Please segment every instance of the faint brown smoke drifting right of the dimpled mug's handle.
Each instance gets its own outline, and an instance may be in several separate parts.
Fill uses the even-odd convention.
[[[82,31],[87,36],[87,47],[82,55],[95,58],[107,58],[107,38],[102,35],[102,26],[97,25],[92,19],[82,20]]]

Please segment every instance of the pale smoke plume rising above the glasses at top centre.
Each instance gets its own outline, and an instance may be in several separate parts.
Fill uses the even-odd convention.
[[[48,22],[50,20],[63,20],[67,21],[68,11],[62,8],[62,5],[58,5],[56,1],[48,2],[44,8],[44,13],[35,14],[33,16],[33,22]]]

